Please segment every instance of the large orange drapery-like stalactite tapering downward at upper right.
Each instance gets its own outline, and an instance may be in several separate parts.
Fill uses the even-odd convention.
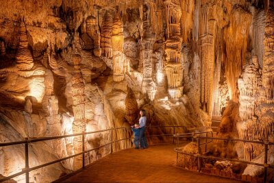
[[[240,6],[234,6],[232,14],[229,15],[229,26],[224,29],[227,53],[225,75],[229,88],[229,97],[234,101],[238,100],[236,83],[242,71],[242,66],[245,65],[251,20],[252,16],[249,11],[242,9]]]

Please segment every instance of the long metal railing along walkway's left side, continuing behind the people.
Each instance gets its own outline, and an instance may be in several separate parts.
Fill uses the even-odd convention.
[[[186,127],[185,126],[147,126],[147,128],[149,127],[173,127],[173,134],[158,134],[158,135],[151,135],[151,136],[173,136],[173,143],[174,143],[174,134],[175,134],[175,127],[184,127],[185,132],[186,132]],[[11,145],[25,145],[25,168],[22,169],[21,172],[18,173],[14,173],[12,175],[9,175],[8,177],[2,178],[0,179],[0,182],[6,181],[6,180],[10,180],[12,178],[17,177],[18,175],[23,175],[25,173],[25,182],[29,182],[29,172],[30,171],[34,171],[36,169],[40,169],[42,167],[47,167],[51,164],[55,164],[57,162],[62,162],[64,160],[68,160],[70,158],[74,158],[76,156],[81,156],[82,155],[82,169],[85,168],[85,154],[90,152],[90,151],[94,151],[96,149],[100,149],[101,147],[105,147],[107,145],[110,145],[110,154],[113,153],[113,144],[117,143],[119,141],[126,141],[129,140],[131,142],[131,135],[129,135],[127,138],[121,138],[118,140],[114,141],[114,134],[113,131],[114,130],[128,130],[128,132],[131,132],[129,127],[112,127],[110,129],[106,129],[106,130],[98,130],[98,131],[93,131],[93,132],[84,132],[84,133],[79,133],[79,134],[69,134],[69,135],[63,135],[63,136],[52,136],[52,137],[42,137],[42,138],[33,138],[33,139],[29,139],[29,138],[25,138],[24,141],[16,141],[16,142],[11,142],[11,143],[0,143],[0,147],[7,147],[7,146],[11,146]],[[110,142],[109,143],[105,143],[104,145],[100,145],[99,147],[95,147],[92,149],[88,149],[85,150],[85,136],[88,134],[95,134],[95,133],[101,133],[101,132],[110,132]],[[131,134],[131,133],[127,133],[127,134]],[[65,158],[60,158],[58,160],[54,160],[51,162],[47,162],[45,164],[40,164],[36,167],[29,167],[29,144],[30,143],[36,143],[36,142],[41,142],[41,141],[50,141],[50,140],[55,140],[55,139],[60,139],[60,138],[67,138],[67,137],[73,137],[73,136],[82,136],[82,152],[78,153],[78,154],[73,154],[71,156],[67,156]],[[149,137],[149,136],[148,136]],[[132,143],[131,143],[132,145]],[[125,148],[126,149],[126,148]]]

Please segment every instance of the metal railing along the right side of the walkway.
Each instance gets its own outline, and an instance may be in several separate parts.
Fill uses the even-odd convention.
[[[246,163],[246,164],[253,164],[253,165],[257,165],[260,167],[264,167],[264,182],[267,181],[267,171],[269,168],[274,169],[274,165],[272,164],[268,164],[267,163],[267,156],[268,156],[268,147],[269,145],[274,145],[274,143],[270,143],[269,141],[250,141],[250,140],[245,140],[245,139],[237,139],[237,138],[219,138],[219,137],[202,137],[199,136],[199,134],[195,134],[195,135],[189,135],[189,134],[175,134],[174,135],[175,138],[177,138],[177,147],[175,148],[175,151],[177,152],[177,164],[178,164],[178,154],[185,154],[188,156],[194,156],[198,158],[198,171],[201,171],[201,158],[209,158],[209,159],[215,159],[215,160],[228,160],[228,161],[233,161],[233,162],[241,162],[241,163]],[[178,145],[178,141],[179,138],[185,138],[185,137],[189,137],[192,139],[196,139],[197,140],[197,145],[198,145],[198,154],[190,154],[190,153],[186,153],[183,151],[179,151],[179,145]],[[237,141],[237,142],[243,142],[243,143],[258,143],[258,144],[262,144],[264,145],[264,164],[261,163],[257,163],[257,162],[251,162],[251,161],[247,161],[247,160],[238,160],[238,159],[234,159],[234,158],[221,158],[221,157],[216,157],[216,156],[206,156],[206,155],[202,155],[201,154],[201,148],[200,148],[200,139],[211,139],[213,140],[220,140],[220,141]],[[212,142],[210,141],[210,142]]]

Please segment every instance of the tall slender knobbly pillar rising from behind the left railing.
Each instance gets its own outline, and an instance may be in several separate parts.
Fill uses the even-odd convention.
[[[80,70],[79,63],[82,58],[79,55],[73,56],[74,72],[72,77],[72,97],[73,97],[73,134],[86,132],[85,121],[85,96],[84,96],[84,80]],[[74,153],[82,152],[82,136],[73,138]],[[77,170],[82,167],[82,156],[76,156],[73,162],[73,169]]]

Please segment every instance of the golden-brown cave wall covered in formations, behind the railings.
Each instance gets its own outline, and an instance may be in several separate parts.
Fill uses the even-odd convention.
[[[0,2],[1,142],[128,127],[140,108],[149,125],[208,126],[229,100],[239,108],[231,117],[236,136],[273,140],[273,1]],[[88,135],[86,147],[109,138]],[[34,165],[78,153],[81,141],[39,144],[47,155],[34,156]],[[241,158],[262,153],[246,146]],[[5,176],[22,168],[23,152],[12,164],[10,151],[16,148],[0,149]],[[39,169],[31,179],[50,182],[80,162],[47,167],[48,177]]]

